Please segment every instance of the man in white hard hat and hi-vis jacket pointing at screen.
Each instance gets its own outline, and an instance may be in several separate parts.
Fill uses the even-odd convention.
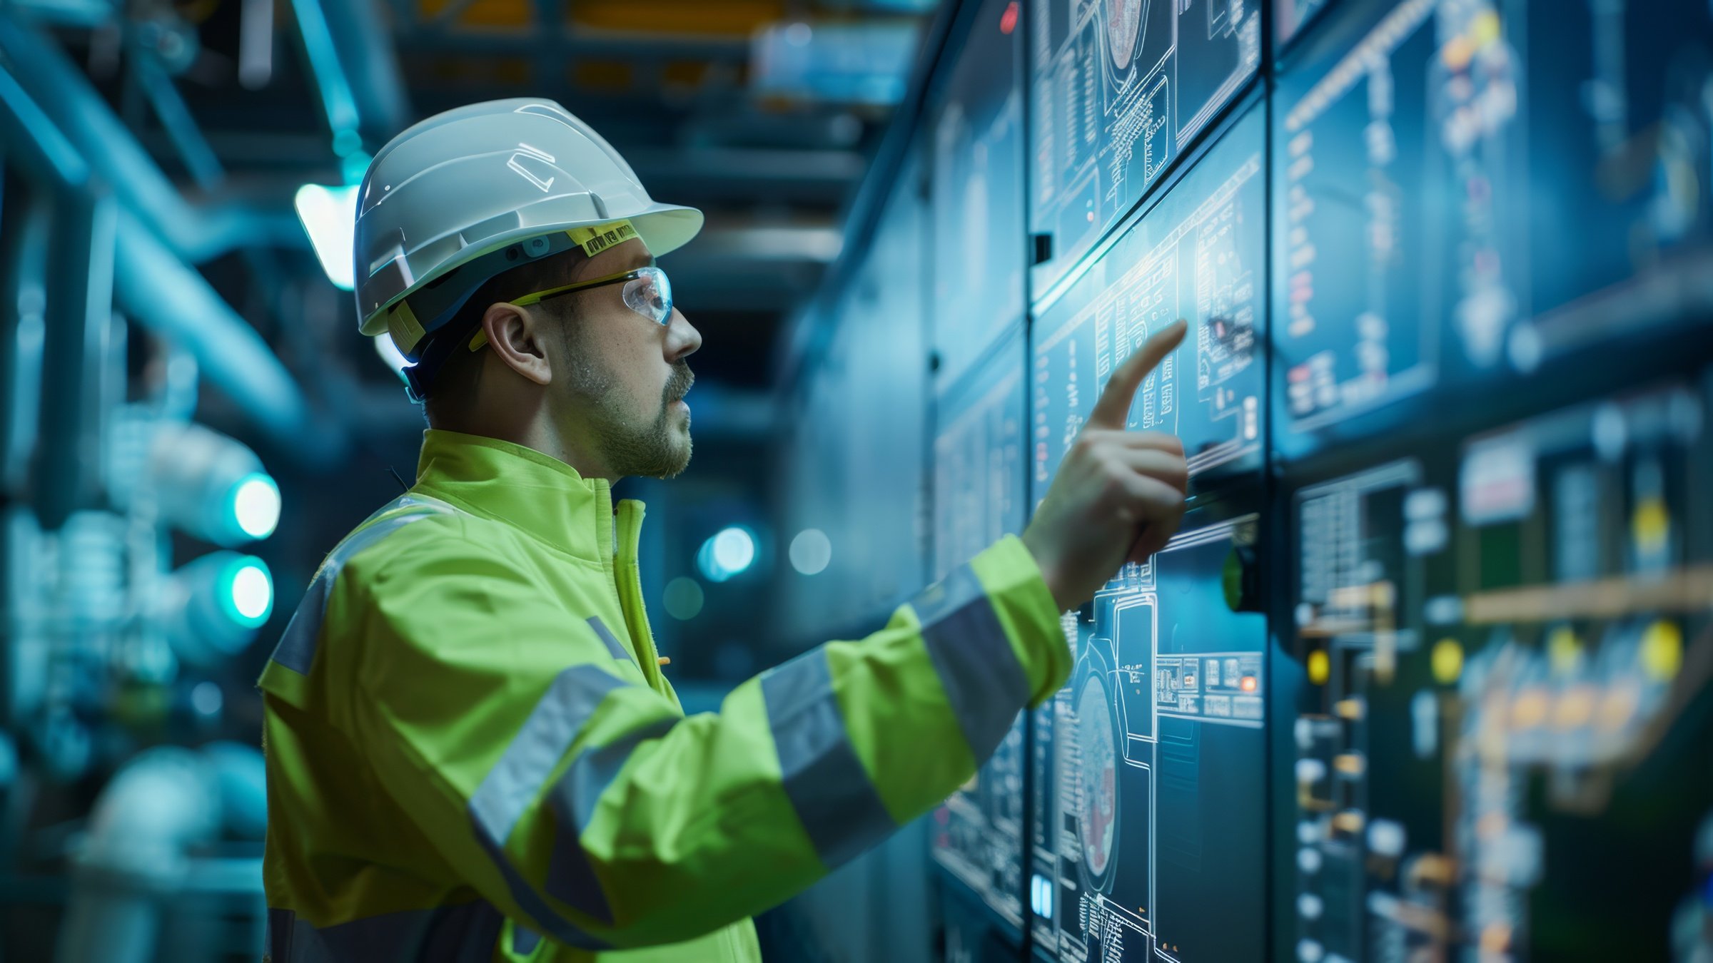
[[[642,505],[610,488],[690,459],[701,336],[654,257],[699,226],[552,101],[433,117],[370,166],[358,314],[416,362],[430,430],[262,673],[274,963],[759,960],[749,917],[968,780],[1064,684],[1059,613],[1175,531],[1182,446],[1124,425],[1182,324],[1021,540],[685,718]]]

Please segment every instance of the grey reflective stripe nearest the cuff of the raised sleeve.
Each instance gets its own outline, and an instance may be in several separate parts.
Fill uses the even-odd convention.
[[[987,763],[1030,703],[1030,677],[1006,627],[970,565],[927,588],[910,607],[970,752],[976,764]]]

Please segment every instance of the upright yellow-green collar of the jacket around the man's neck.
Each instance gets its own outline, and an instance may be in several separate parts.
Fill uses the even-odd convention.
[[[534,449],[428,428],[416,488],[504,521],[567,555],[610,565],[613,493],[605,478]]]

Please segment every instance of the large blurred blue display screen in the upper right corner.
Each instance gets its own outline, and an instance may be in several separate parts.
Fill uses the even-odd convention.
[[[1331,5],[1273,105],[1280,454],[1713,314],[1713,10]]]

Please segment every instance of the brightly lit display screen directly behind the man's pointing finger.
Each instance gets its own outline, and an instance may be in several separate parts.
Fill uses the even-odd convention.
[[[1036,317],[1036,497],[1112,370],[1180,317],[1191,334],[1136,392],[1131,427],[1179,435],[1192,475],[1261,464],[1264,139],[1261,113],[1245,115]]]

